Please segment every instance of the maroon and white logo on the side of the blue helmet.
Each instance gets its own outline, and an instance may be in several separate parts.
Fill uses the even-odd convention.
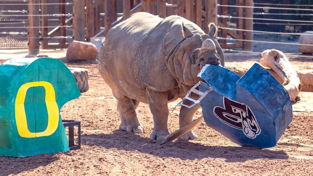
[[[224,107],[216,106],[213,109],[214,115],[223,123],[240,129],[248,138],[255,138],[261,133],[258,122],[249,106],[224,97]]]

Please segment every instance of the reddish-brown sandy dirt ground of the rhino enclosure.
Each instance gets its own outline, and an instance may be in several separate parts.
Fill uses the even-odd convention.
[[[65,52],[46,51],[55,58],[64,57]],[[2,55],[17,57],[9,52]],[[225,65],[250,68],[260,58],[245,56],[226,54]],[[313,69],[312,59],[291,58],[290,62],[296,69]],[[205,123],[194,128],[197,140],[160,145],[149,139],[153,120],[147,104],[140,103],[136,109],[146,133],[118,130],[116,100],[100,77],[97,62],[66,65],[87,68],[90,74],[89,91],[61,109],[63,119],[81,121],[82,148],[24,158],[0,157],[0,175],[313,175],[313,93],[300,92],[293,103],[293,121],[273,148],[241,147]],[[178,102],[169,103],[169,110]],[[179,107],[169,113],[171,132],[179,128],[178,114]],[[201,115],[199,109],[194,118]]]

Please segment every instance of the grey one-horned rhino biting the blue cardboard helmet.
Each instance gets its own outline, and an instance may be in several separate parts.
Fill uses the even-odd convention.
[[[102,41],[99,71],[117,99],[119,128],[144,133],[135,109],[139,102],[147,103],[154,121],[150,138],[164,140],[169,135],[167,103],[183,98],[199,82],[197,74],[205,64],[224,65],[215,33],[214,24],[205,34],[185,18],[174,15],[163,19],[143,12],[111,28]],[[199,107],[181,107],[180,128],[192,122]],[[192,131],[180,137],[195,138],[198,136]]]

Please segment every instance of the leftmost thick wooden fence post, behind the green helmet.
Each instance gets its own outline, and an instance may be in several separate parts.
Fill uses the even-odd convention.
[[[28,1],[28,55],[26,57],[39,54],[39,5],[32,5],[38,3],[39,0]]]

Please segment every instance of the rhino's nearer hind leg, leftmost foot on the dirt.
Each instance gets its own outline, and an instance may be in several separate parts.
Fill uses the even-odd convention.
[[[144,133],[145,128],[140,124],[137,118],[136,108],[139,102],[123,95],[117,100],[117,110],[120,113],[121,124],[119,129],[133,133]]]

